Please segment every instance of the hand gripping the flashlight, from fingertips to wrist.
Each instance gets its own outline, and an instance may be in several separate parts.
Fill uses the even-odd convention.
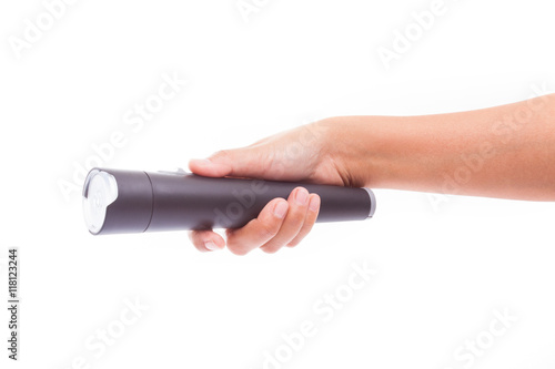
[[[190,170],[210,177],[249,177],[271,181],[305,181],[344,185],[345,171],[329,155],[329,125],[317,122],[261,140],[243,148],[220,151],[208,160],[192,160]],[[258,218],[244,227],[226,229],[226,243],[212,230],[193,230],[191,242],[201,252],[228,244],[236,255],[261,248],[275,253],[297,245],[311,230],[320,209],[320,197],[303,187],[285,201],[274,198]]]

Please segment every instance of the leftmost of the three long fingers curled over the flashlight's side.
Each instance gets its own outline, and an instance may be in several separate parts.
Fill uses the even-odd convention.
[[[258,218],[242,228],[228,229],[228,248],[235,255],[245,255],[264,245],[278,234],[287,212],[289,203],[285,199],[272,199]]]

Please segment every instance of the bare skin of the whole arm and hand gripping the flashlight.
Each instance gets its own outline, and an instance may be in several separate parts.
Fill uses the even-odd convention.
[[[330,117],[189,167],[211,177],[555,201],[555,94],[448,114]],[[310,233],[319,208],[319,196],[297,187],[226,229],[226,240],[212,230],[190,238],[203,252],[275,253]]]

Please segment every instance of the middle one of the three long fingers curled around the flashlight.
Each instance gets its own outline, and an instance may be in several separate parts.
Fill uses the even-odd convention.
[[[287,198],[287,216],[283,221],[280,232],[261,247],[263,252],[275,253],[295,238],[306,217],[309,197],[309,192],[303,187],[296,187],[291,192]]]

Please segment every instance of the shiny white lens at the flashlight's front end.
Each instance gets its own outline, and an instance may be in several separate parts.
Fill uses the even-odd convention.
[[[107,207],[118,198],[118,183],[113,175],[103,171],[91,171],[83,192],[84,222],[89,230],[99,233],[104,225]]]

